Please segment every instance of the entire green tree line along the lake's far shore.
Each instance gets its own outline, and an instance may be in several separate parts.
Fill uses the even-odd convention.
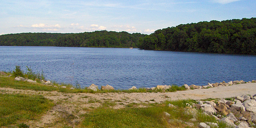
[[[106,30],[0,36],[0,46],[137,47],[145,50],[256,54],[256,18],[180,24],[150,35]]]

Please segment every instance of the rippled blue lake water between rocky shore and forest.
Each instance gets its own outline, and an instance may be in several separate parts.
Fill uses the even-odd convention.
[[[129,48],[0,46],[0,70],[26,66],[44,72],[47,80],[81,84],[132,86],[256,79],[256,56],[150,51]]]

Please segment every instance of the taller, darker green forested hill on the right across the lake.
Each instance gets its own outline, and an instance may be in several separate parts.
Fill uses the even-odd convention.
[[[180,24],[156,30],[138,45],[145,50],[256,54],[256,18]]]

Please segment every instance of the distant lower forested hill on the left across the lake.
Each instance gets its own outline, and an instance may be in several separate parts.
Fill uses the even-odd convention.
[[[138,47],[144,34],[106,30],[76,34],[21,33],[0,36],[0,46]]]

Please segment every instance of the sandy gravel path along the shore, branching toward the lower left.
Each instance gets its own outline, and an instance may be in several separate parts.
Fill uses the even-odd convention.
[[[62,92],[47,92],[34,90],[18,90],[13,88],[0,88],[0,93],[40,94],[56,104],[51,110],[44,114],[41,120],[30,121],[28,124],[33,128],[58,128],[66,123],[68,126],[76,126],[81,122],[79,115],[90,112],[103,103],[114,103],[112,108],[124,108],[127,104],[137,103],[162,103],[166,100],[178,99],[206,99],[206,98],[230,98],[242,96],[243,94],[256,94],[256,83],[236,84],[232,86],[218,86],[207,89],[194,89],[177,92],[151,92],[151,93],[78,93],[68,94]],[[67,118],[67,117],[74,118]]]

